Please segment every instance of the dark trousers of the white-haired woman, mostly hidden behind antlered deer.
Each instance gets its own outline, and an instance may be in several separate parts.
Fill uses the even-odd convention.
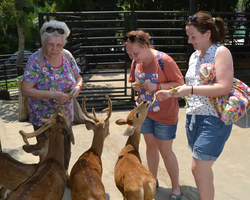
[[[34,131],[36,131],[40,127],[41,126],[33,125]],[[44,133],[36,136],[36,140],[38,141],[43,137],[45,137]],[[70,142],[69,135],[67,135],[66,137],[64,137],[64,168],[65,168],[65,170],[68,170],[68,168],[69,168],[70,157],[71,157],[71,142]]]

